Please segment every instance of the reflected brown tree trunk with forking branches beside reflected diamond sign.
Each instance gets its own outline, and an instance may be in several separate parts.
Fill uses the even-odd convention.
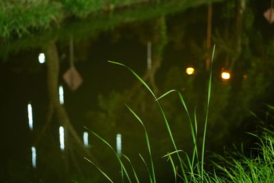
[[[59,65],[60,60],[58,56],[58,49],[56,47],[55,41],[52,41],[47,45],[46,48],[47,54],[47,88],[49,95],[49,111],[47,116],[47,121],[42,127],[38,138],[36,138],[35,143],[37,144],[43,134],[45,134],[49,123],[52,121],[53,114],[56,114],[60,125],[64,127],[65,130],[65,150],[64,150],[64,159],[66,162],[66,170],[69,170],[69,152],[73,149],[77,149],[80,152],[84,153],[85,156],[90,158],[90,160],[99,164],[96,158],[84,147],[81,138],[78,136],[75,128],[73,127],[69,115],[66,113],[66,110],[59,101],[58,93],[58,78],[59,78]],[[74,153],[70,153],[72,158],[74,158]]]

